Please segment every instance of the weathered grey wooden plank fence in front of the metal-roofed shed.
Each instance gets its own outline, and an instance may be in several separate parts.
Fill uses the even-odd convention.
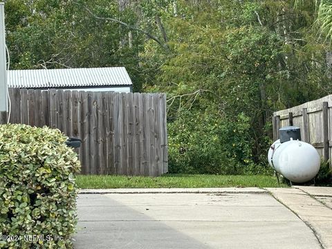
[[[80,138],[82,174],[159,176],[168,171],[164,93],[10,89],[11,123]]]

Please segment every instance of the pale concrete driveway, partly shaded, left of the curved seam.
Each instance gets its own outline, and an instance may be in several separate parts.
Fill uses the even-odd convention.
[[[268,191],[83,190],[74,247],[324,248],[317,231]]]

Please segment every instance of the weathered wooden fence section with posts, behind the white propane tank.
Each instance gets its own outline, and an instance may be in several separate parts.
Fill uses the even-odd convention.
[[[332,147],[331,118],[332,95],[276,111],[273,113],[273,138],[279,138],[279,128],[297,126],[301,129],[302,140],[311,143],[320,156],[329,160]]]

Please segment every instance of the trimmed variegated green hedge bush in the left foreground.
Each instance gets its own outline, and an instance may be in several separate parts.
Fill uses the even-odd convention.
[[[0,125],[0,248],[72,248],[77,154],[58,129]]]

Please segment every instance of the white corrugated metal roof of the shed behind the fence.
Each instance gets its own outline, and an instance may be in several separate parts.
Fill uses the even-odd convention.
[[[124,67],[10,70],[11,88],[132,85]]]

